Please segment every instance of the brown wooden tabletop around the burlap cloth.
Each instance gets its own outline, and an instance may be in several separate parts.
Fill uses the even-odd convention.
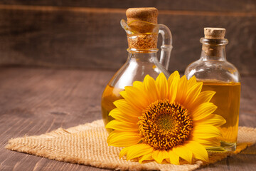
[[[0,170],[102,170],[4,149],[10,138],[40,135],[101,118],[114,72],[0,67]],[[256,77],[242,77],[239,125],[256,128]],[[199,170],[255,170],[256,146]]]

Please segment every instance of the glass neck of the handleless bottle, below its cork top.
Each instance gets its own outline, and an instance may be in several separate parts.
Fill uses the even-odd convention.
[[[225,45],[227,39],[207,39],[201,38],[202,52],[201,60],[203,61],[227,61],[225,56]]]

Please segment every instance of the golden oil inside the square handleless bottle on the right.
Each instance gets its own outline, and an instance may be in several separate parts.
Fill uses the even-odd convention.
[[[223,135],[223,140],[220,142],[221,147],[232,148],[237,142],[240,86],[240,83],[203,82],[202,91],[213,90],[216,92],[210,100],[218,106],[214,113],[221,115],[226,120],[226,123],[219,128]]]

